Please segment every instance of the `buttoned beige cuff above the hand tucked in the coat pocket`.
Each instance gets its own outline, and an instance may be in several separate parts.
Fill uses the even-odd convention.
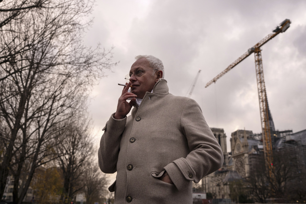
[[[190,167],[185,158],[179,158],[164,167],[177,190],[181,191],[194,181],[196,172]]]

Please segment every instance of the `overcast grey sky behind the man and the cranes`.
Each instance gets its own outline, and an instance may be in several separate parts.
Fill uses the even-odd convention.
[[[267,97],[277,130],[306,129],[306,1],[107,0],[97,1],[92,15],[85,44],[114,46],[120,61],[91,94],[97,144],[136,55],[162,60],[176,96],[187,96],[202,70],[191,98],[210,127],[224,129],[229,152],[232,132],[261,132],[254,54],[204,86],[285,19],[290,28],[261,47]]]

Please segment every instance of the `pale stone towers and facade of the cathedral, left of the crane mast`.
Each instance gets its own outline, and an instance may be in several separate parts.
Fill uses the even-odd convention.
[[[213,198],[230,199],[230,182],[241,180],[249,175],[252,161],[262,151],[260,135],[250,130],[237,130],[232,133],[231,156],[226,150],[226,134],[221,128],[211,128],[224,155],[224,163],[218,171],[202,179],[202,189],[211,193]]]

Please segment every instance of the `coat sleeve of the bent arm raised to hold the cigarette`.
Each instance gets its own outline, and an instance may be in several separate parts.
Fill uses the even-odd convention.
[[[112,114],[103,128],[104,134],[100,141],[98,159],[99,167],[104,173],[115,173],[117,171],[120,139],[125,124],[126,116],[124,119],[117,120],[114,119],[114,114]]]

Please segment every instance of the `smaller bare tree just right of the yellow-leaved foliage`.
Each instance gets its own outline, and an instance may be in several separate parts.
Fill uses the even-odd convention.
[[[66,123],[64,130],[58,133],[61,143],[54,149],[58,154],[58,165],[64,177],[64,191],[61,195],[63,203],[71,202],[73,196],[84,189],[82,177],[88,159],[93,155],[88,125],[89,121],[84,115],[78,114]]]

